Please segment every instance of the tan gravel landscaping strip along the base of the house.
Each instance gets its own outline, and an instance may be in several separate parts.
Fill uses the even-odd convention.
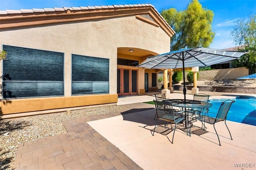
[[[0,169],[12,170],[18,146],[22,143],[66,133],[62,121],[129,110],[122,106],[102,106],[0,120]]]

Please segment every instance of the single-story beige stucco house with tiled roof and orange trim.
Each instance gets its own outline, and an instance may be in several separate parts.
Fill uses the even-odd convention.
[[[169,52],[174,33],[151,4],[0,11],[2,118],[155,90],[160,70],[136,65]]]

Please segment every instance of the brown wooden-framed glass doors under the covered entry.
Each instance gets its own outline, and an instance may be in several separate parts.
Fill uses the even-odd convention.
[[[117,94],[118,96],[138,94],[138,70],[117,68]]]

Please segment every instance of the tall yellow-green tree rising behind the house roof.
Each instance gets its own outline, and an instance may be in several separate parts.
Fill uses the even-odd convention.
[[[162,10],[161,15],[176,31],[171,37],[171,51],[181,48],[209,47],[215,33],[212,32],[213,12],[202,8],[198,0],[192,0],[186,10],[175,8]]]

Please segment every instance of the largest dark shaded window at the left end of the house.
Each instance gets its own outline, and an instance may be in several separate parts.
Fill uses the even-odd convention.
[[[8,45],[3,49],[4,98],[64,96],[64,53]]]

